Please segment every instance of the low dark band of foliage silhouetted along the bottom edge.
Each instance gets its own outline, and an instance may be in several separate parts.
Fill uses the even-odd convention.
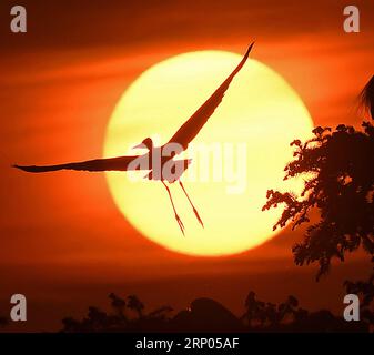
[[[115,296],[115,300],[122,298]],[[138,297],[137,300],[139,301]],[[173,316],[173,310],[169,306],[132,318],[119,314],[113,304],[111,306],[110,313],[89,307],[87,316],[81,321],[64,318],[61,332],[367,332],[370,324],[373,324],[373,320],[368,318],[348,323],[328,311],[309,312],[299,306],[294,296],[289,296],[277,305],[262,302],[254,292],[249,293],[244,303],[245,312],[241,317],[210,298],[198,298],[188,310]]]

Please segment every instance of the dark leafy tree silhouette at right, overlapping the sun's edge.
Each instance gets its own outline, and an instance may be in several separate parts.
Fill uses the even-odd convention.
[[[374,77],[362,93],[371,112],[373,85]],[[332,258],[344,261],[345,253],[358,246],[374,261],[374,126],[370,122],[362,126],[340,124],[334,131],[317,126],[305,143],[293,141],[294,160],[285,166],[284,180],[303,175],[303,192],[297,196],[267,191],[263,210],[285,205],[274,230],[289,222],[293,229],[310,222],[311,211],[319,210],[320,221],[293,246],[297,265],[319,262],[317,278],[328,271]]]

